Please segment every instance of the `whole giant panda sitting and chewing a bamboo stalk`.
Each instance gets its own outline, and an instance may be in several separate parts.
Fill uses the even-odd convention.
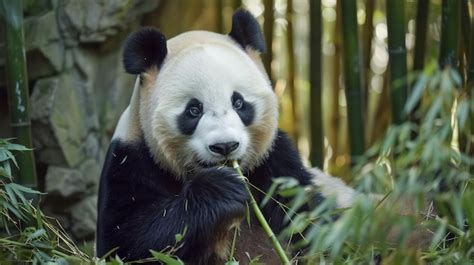
[[[142,28],[129,36],[123,64],[137,79],[101,174],[97,256],[145,259],[151,249],[176,245],[175,235],[182,234],[176,251],[181,260],[223,264],[248,201],[242,180],[222,166],[229,160],[239,161],[257,201],[263,198],[257,190],[267,190],[280,176],[315,184],[320,172],[305,168],[278,129],[277,97],[263,52],[261,29],[245,10],[233,15],[227,35],[192,31],[166,40],[158,30]],[[325,191],[340,191],[342,206],[354,196],[335,179],[316,184],[323,186],[316,203]],[[272,229],[281,231],[281,208],[270,202],[262,211]],[[276,263],[258,223],[242,224],[241,230],[237,259],[247,252]]]

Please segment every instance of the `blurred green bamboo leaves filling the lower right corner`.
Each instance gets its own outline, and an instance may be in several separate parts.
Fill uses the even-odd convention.
[[[291,225],[280,236],[300,234],[297,244],[307,247],[301,259],[308,264],[369,264],[379,256],[396,264],[474,262],[474,158],[457,146],[458,135],[469,133],[472,99],[452,68],[432,64],[416,80],[405,111],[420,123],[390,127],[366,152],[354,168],[360,195],[353,206],[341,211],[328,200],[290,214]],[[421,107],[410,113],[418,102]],[[294,189],[290,185],[291,194],[304,194],[308,187]],[[271,191],[285,194],[278,187]],[[294,196],[287,212],[308,198]]]

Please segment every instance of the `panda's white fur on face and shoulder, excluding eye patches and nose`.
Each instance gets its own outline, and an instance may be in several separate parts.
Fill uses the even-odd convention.
[[[277,99],[256,59],[221,34],[193,31],[170,39],[163,68],[145,73],[142,83],[137,80],[114,139],[140,137],[135,127],[139,117],[155,160],[178,176],[185,177],[197,162],[222,162],[208,150],[210,144],[222,141],[239,142],[238,150],[228,158],[244,157],[241,166],[253,169],[271,150],[278,125]],[[233,91],[255,106],[256,122],[249,128],[231,111]],[[204,115],[191,137],[179,136],[176,116],[190,98],[203,102]]]

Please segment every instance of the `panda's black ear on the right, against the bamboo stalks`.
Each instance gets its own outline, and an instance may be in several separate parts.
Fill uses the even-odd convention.
[[[242,48],[252,48],[265,52],[265,38],[255,17],[250,12],[239,9],[232,16],[232,30],[229,36],[239,43]]]

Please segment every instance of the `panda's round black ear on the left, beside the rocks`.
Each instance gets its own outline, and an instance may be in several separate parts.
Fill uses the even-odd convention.
[[[138,75],[154,66],[160,68],[167,53],[165,36],[155,28],[144,27],[132,33],[125,41],[125,71]]]

